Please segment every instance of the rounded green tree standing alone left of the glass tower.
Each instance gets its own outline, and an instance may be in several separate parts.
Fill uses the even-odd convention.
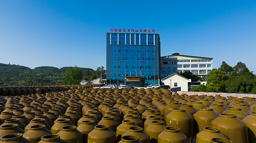
[[[75,66],[74,69],[72,67],[68,67],[69,70],[66,70],[63,77],[65,78],[65,82],[68,85],[80,84],[81,78],[83,77],[83,71],[81,68]]]

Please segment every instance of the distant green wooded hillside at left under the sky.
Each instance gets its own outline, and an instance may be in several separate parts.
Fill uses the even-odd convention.
[[[86,70],[93,71],[91,68],[81,68],[83,75]],[[68,67],[29,67],[0,63],[0,86],[39,86],[39,85],[58,85],[64,84],[62,75]]]

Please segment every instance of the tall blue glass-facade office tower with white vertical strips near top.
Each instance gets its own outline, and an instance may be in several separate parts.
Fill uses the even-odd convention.
[[[107,33],[107,84],[141,76],[142,85],[159,84],[159,34]]]

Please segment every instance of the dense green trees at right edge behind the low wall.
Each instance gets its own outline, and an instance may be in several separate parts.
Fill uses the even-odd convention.
[[[223,61],[218,69],[212,69],[205,78],[206,85],[192,87],[190,91],[256,94],[256,75],[242,62],[231,67]]]

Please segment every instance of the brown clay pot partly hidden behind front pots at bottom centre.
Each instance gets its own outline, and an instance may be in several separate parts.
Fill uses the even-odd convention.
[[[122,123],[116,127],[116,142],[121,140],[122,134],[128,131],[129,127],[139,127],[133,120],[123,120]]]

